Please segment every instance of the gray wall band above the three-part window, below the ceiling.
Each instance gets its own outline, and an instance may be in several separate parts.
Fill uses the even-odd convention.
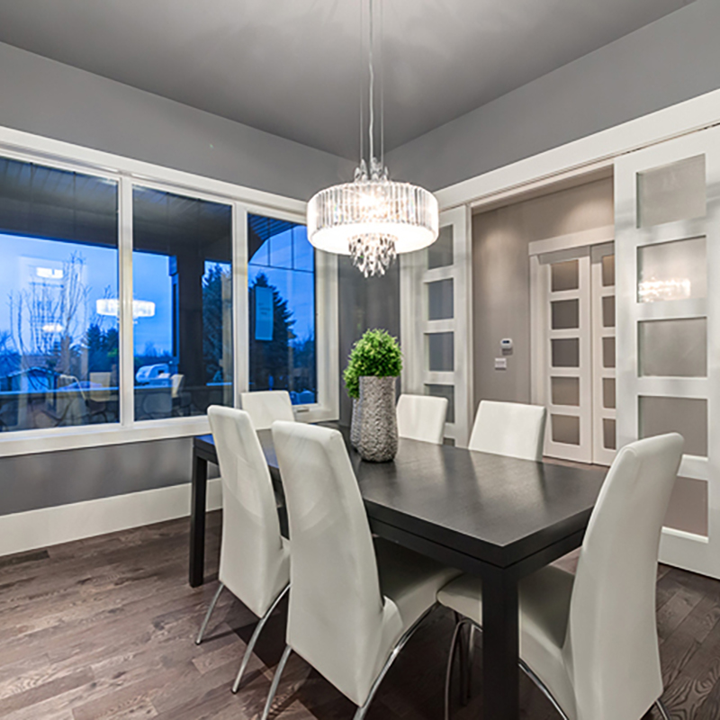
[[[301,200],[347,181],[354,167],[347,159],[4,43],[0,126]]]

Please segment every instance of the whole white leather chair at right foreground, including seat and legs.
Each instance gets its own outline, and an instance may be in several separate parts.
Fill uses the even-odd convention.
[[[625,446],[590,516],[574,577],[548,566],[519,585],[520,665],[563,720],[640,720],[662,705],[655,586],[662,521],[680,467],[677,433]],[[482,584],[462,576],[437,595],[480,626]]]

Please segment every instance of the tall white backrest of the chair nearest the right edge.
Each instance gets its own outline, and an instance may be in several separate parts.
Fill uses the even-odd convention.
[[[625,446],[590,517],[563,647],[582,720],[635,720],[662,695],[657,561],[682,446],[677,433]]]

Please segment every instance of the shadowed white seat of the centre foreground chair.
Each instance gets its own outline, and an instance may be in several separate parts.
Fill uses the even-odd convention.
[[[404,632],[435,605],[438,590],[460,571],[380,537],[374,545],[380,590],[397,606]]]

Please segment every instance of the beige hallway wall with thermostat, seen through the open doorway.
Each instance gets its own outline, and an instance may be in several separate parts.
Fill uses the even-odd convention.
[[[528,243],[614,223],[609,177],[473,216],[475,407],[530,401]],[[512,338],[513,351],[508,369],[495,370],[502,338]]]

